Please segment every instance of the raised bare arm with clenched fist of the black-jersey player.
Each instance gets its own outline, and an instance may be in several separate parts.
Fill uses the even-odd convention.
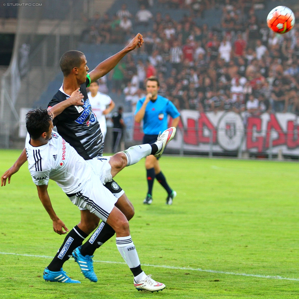
[[[138,33],[133,40],[131,40],[130,44],[128,44],[123,50],[119,51],[115,55],[107,58],[103,62],[101,62],[95,69],[93,69],[89,73],[90,83],[97,81],[99,78],[108,74],[115,66],[120,62],[120,60],[130,51],[135,48],[140,48],[143,44],[143,37],[140,33]]]

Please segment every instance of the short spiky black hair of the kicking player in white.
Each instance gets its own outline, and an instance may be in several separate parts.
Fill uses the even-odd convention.
[[[26,128],[30,137],[34,140],[40,138],[41,134],[48,132],[52,120],[51,112],[47,109],[33,109],[26,114]]]

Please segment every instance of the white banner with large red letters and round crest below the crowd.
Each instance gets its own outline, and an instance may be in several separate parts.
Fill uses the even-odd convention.
[[[299,155],[299,117],[293,113],[263,113],[251,116],[247,112],[198,112],[182,110],[176,136],[169,142],[170,149],[184,149],[194,152],[209,152],[212,142],[213,152],[272,153]],[[271,134],[271,137],[270,137]],[[134,128],[134,139],[142,133]],[[211,139],[211,140],[210,140]]]

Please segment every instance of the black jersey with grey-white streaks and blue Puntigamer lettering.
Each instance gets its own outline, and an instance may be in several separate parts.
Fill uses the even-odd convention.
[[[90,78],[87,75],[85,84],[80,86],[80,91],[84,96],[84,106],[70,106],[53,120],[58,133],[85,160],[102,156],[104,149],[100,125],[87,96],[86,87],[89,86],[89,82]],[[61,86],[48,107],[53,107],[69,97],[70,95],[64,93]]]

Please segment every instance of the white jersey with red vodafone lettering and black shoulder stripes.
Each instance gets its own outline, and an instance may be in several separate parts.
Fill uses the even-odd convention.
[[[93,175],[93,170],[76,150],[58,133],[42,146],[31,146],[30,136],[26,138],[28,169],[36,185],[47,185],[54,180],[66,194],[82,190]]]

